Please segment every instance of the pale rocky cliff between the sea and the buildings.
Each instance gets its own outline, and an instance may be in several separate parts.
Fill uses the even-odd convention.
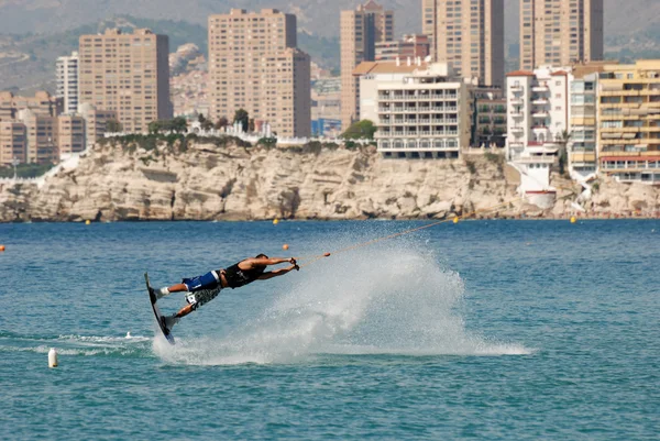
[[[582,190],[556,178],[558,201],[542,210],[521,202],[517,185],[496,155],[406,161],[383,159],[372,146],[116,142],[95,146],[41,188],[0,184],[0,221],[560,217],[575,212]],[[658,194],[603,181],[582,203],[594,216],[651,213]]]

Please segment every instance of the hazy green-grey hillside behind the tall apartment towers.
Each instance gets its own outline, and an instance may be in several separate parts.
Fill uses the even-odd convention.
[[[517,66],[518,1],[505,0],[507,69]],[[339,12],[354,0],[0,0],[0,90],[53,90],[54,62],[75,49],[78,35],[105,27],[152,27],[184,43],[207,46],[207,16],[234,8],[280,8],[298,16],[299,45],[322,67],[339,67]],[[382,0],[396,11],[396,33],[419,32],[421,0]],[[413,3],[413,4],[411,4]],[[660,1],[605,0],[606,57],[629,62],[660,57]],[[625,13],[624,12],[625,9]],[[122,15],[127,11],[131,16]]]

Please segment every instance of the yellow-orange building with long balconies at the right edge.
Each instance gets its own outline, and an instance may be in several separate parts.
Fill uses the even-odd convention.
[[[605,65],[597,88],[600,173],[660,184],[660,60]]]

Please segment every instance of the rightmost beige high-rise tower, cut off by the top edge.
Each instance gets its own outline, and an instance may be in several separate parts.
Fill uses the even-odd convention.
[[[603,59],[603,0],[520,0],[520,69]]]

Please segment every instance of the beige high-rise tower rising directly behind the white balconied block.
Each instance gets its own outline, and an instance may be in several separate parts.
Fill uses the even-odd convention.
[[[481,85],[504,86],[504,0],[422,0],[431,57]]]

